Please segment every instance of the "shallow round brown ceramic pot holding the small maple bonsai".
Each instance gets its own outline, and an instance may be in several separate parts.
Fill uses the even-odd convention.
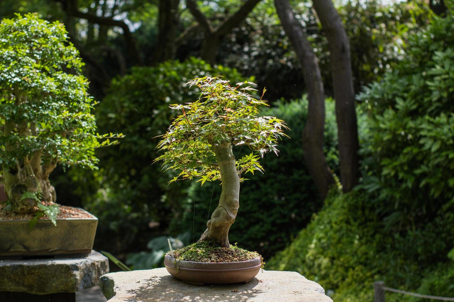
[[[237,283],[249,282],[260,271],[260,258],[238,262],[195,262],[176,260],[166,255],[164,265],[175,278],[186,283]]]

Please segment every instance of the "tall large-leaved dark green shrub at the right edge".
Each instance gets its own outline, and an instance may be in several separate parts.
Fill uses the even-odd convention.
[[[398,67],[358,96],[370,116],[363,187],[390,225],[424,225],[454,196],[453,24],[434,17]]]

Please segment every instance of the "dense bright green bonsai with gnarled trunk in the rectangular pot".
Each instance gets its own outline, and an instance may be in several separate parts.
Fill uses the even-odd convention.
[[[119,137],[96,134],[83,65],[58,21],[37,14],[1,21],[0,164],[8,208],[16,213],[38,211],[55,223],[49,174],[58,163],[96,168],[94,148]]]

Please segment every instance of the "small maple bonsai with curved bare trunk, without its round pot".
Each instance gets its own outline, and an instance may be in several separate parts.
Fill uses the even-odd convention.
[[[188,83],[200,89],[199,98],[192,103],[172,105],[183,112],[173,120],[158,148],[165,153],[164,169],[178,171],[180,179],[200,177],[204,182],[221,180],[222,192],[217,208],[207,222],[207,229],[199,241],[210,241],[229,247],[228,231],[235,221],[239,208],[240,182],[244,174],[263,172],[259,158],[276,149],[277,141],[286,128],[283,120],[259,116],[258,105],[266,105],[262,97],[257,100],[249,91],[251,86],[241,82],[230,86],[220,77],[196,78]],[[233,146],[248,146],[252,153],[236,159]]]

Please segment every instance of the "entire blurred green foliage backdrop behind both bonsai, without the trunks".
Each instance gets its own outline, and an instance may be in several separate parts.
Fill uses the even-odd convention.
[[[434,17],[428,0],[334,1],[350,39],[355,91],[362,91],[362,179],[355,192],[341,194],[333,188],[322,204],[301,149],[307,115],[301,66],[272,0],[262,0],[223,37],[212,66],[193,58],[204,35],[197,27],[186,31],[195,21],[184,1],[176,22],[181,38],[177,60],[161,64],[153,62],[161,46],[157,1],[76,1],[80,12],[126,22],[140,64],[129,55],[122,29],[71,18],[65,2],[3,0],[0,17],[37,11],[44,19],[64,22],[87,63],[83,72],[91,81],[90,93],[101,101],[96,116],[100,131],[126,134],[120,145],[97,151],[98,171],[74,167],[63,174],[59,169],[52,179],[59,202],[83,206],[99,217],[95,249],[108,250],[133,268],[148,268],[162,263],[165,238],[183,244],[197,240],[220,187],[168,186],[172,176],[151,165],[157,156],[154,137],[177,114],[169,104],[195,99],[183,88],[186,81],[224,75],[232,81],[253,80],[259,90],[266,86],[271,108],[264,114],[286,120],[291,128],[280,156],[262,162],[266,174],[242,185],[232,243],[261,252],[267,269],[296,270],[320,282],[335,301],[370,301],[371,285],[379,279],[413,292],[452,296],[452,12],[444,19]],[[197,1],[212,24],[222,22],[241,2]],[[328,96],[324,149],[338,173],[326,36],[311,1],[290,2],[321,64]],[[452,1],[444,3],[454,8]],[[237,148],[235,154],[247,151]],[[420,301],[387,294],[389,301],[405,299]]]

